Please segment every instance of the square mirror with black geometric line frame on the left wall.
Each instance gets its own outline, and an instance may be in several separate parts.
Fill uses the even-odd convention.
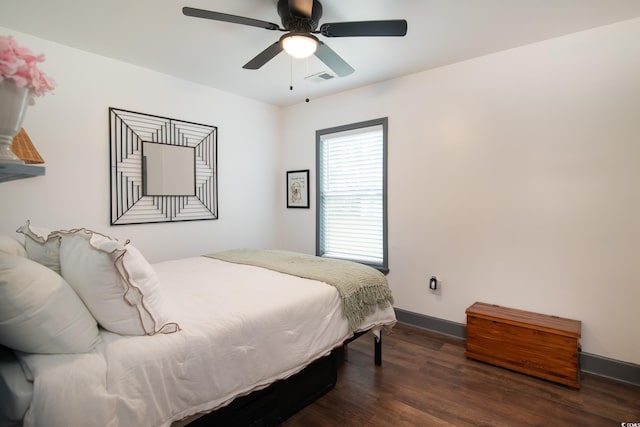
[[[111,225],[218,219],[216,126],[110,107],[109,143]]]

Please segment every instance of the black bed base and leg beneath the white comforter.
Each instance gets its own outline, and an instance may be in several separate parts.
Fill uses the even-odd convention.
[[[355,334],[329,355],[316,360],[297,374],[239,397],[229,405],[194,420],[188,427],[272,427],[281,424],[333,389],[347,344],[367,332]],[[382,337],[375,338],[374,341],[374,363],[380,366]]]

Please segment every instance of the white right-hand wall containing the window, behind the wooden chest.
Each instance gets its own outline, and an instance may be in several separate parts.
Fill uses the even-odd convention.
[[[640,363],[638,40],[635,19],[289,107],[280,167],[311,169],[312,209],[283,246],[315,250],[315,131],[388,116],[396,307],[580,319],[584,351]]]

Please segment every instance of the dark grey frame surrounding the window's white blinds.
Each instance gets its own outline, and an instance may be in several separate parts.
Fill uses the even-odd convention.
[[[377,270],[387,274],[389,272],[389,250],[388,250],[388,209],[387,209],[387,151],[388,151],[388,132],[389,119],[382,117],[373,120],[366,120],[347,125],[336,126],[332,128],[320,129],[316,131],[316,255],[324,256],[320,247],[320,223],[321,223],[321,139],[330,134],[357,131],[358,129],[366,129],[374,126],[382,126],[382,263],[368,263],[361,260],[351,259],[350,261],[359,262],[369,265]],[[348,260],[348,258],[340,258]]]

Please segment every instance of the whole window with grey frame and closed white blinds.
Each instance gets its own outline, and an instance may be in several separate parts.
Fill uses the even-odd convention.
[[[316,254],[387,272],[387,118],[316,131],[316,173]]]

